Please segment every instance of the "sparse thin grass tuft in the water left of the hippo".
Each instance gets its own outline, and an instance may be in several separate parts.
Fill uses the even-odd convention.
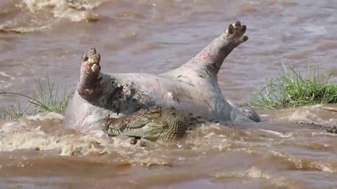
[[[0,92],[1,96],[11,95],[12,101],[5,102],[6,108],[0,109],[0,118],[4,120],[18,120],[22,116],[34,115],[39,112],[63,112],[67,107],[69,99],[74,94],[73,90],[67,87],[59,89],[54,83],[51,83],[48,76],[46,80],[40,80],[39,86],[32,97],[16,92]],[[28,100],[25,106],[18,101],[18,97]]]

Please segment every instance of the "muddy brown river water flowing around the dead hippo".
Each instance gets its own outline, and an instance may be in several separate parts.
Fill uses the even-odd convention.
[[[2,0],[0,91],[30,95],[46,75],[75,87],[91,47],[105,72],[168,71],[241,20],[249,41],[225,59],[218,80],[227,99],[244,103],[282,62],[336,73],[336,9],[329,0]],[[335,111],[259,113],[259,125],[206,123],[145,147],[66,130],[57,113],[1,121],[0,188],[337,188],[337,135],[291,124],[336,125]]]

